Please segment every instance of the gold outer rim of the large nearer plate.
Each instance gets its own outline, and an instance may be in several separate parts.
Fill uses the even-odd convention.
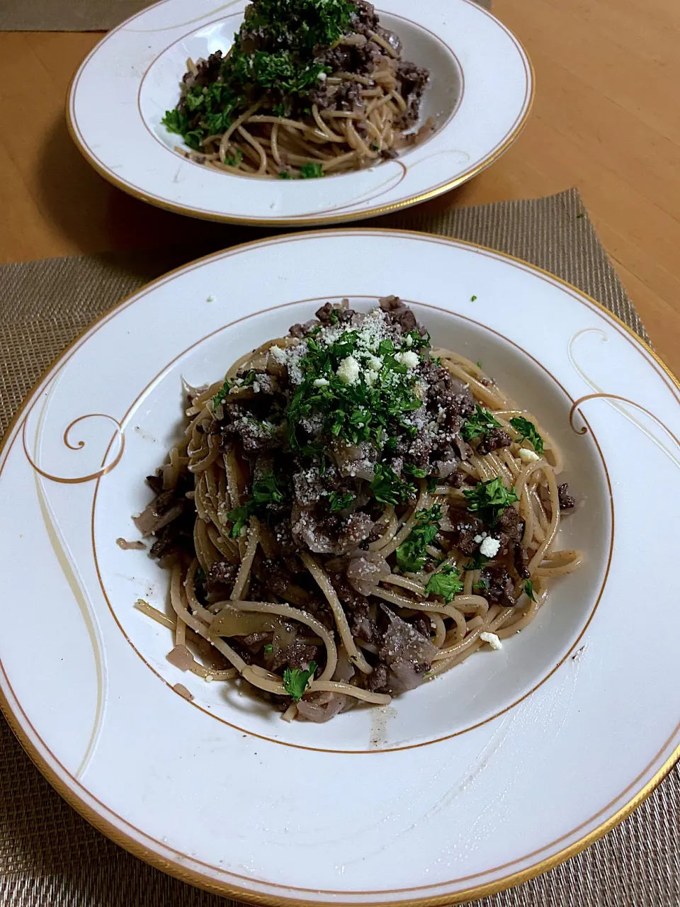
[[[370,233],[374,235],[380,234],[395,234],[400,237],[411,236],[414,239],[437,239],[441,240],[444,244],[451,244],[453,246],[462,246],[469,249],[480,249],[482,252],[491,253],[492,256],[505,259],[509,262],[516,262],[520,265],[521,268],[533,273],[535,275],[540,275],[543,277],[549,278],[550,281],[556,281],[562,287],[568,289],[571,294],[576,294],[578,297],[581,297],[584,300],[587,300],[588,303],[594,306],[597,310],[604,313],[608,318],[610,318],[617,327],[622,328],[625,334],[628,335],[627,339],[633,346],[641,347],[648,356],[650,356],[657,366],[660,366],[661,370],[665,375],[670,378],[672,384],[675,387],[675,390],[680,391],[680,380],[678,380],[671,369],[666,366],[664,360],[658,356],[655,350],[646,342],[646,340],[637,335],[636,332],[629,327],[626,322],[624,322],[620,317],[611,312],[606,306],[598,302],[597,299],[589,296],[588,293],[575,287],[573,284],[570,284],[567,280],[559,278],[555,274],[551,274],[546,268],[540,268],[538,265],[531,264],[528,261],[525,261],[522,258],[519,258],[514,255],[510,255],[508,252],[500,251],[499,249],[492,249],[489,246],[483,246],[481,243],[471,242],[465,239],[457,239],[455,237],[443,236],[441,234],[432,234],[427,233],[423,230],[413,230],[413,229],[395,229],[395,228],[338,228],[338,229],[326,229],[326,230],[305,230],[299,231],[293,234],[297,238],[303,237],[318,237],[320,235],[332,235],[334,233],[342,234],[365,234]],[[274,236],[267,237],[265,239],[251,240],[248,242],[238,243],[234,246],[230,246],[227,249],[220,249],[217,252],[212,252],[209,255],[201,256],[199,258],[192,259],[189,262],[181,265],[179,268],[172,268],[170,271],[160,275],[158,278],[154,278],[149,283],[145,284],[143,287],[138,288],[134,292],[128,294],[127,296],[121,298],[114,306],[106,309],[102,312],[102,315],[97,317],[92,321],[92,323],[81,331],[78,336],[74,337],[73,341],[65,346],[59,356],[56,356],[53,361],[47,366],[37,381],[32,386],[31,390],[27,395],[24,396],[21,406],[19,407],[17,413],[12,418],[10,424],[8,425],[5,434],[0,441],[0,457],[5,454],[5,450],[10,442],[11,436],[15,431],[16,426],[20,423],[25,410],[29,403],[33,400],[34,395],[43,384],[44,379],[52,372],[54,366],[58,365],[64,358],[68,356],[76,346],[87,336],[92,327],[96,327],[102,324],[105,320],[112,316],[112,314],[119,308],[127,305],[131,300],[138,296],[141,290],[149,290],[155,288],[156,285],[160,284],[163,281],[166,281],[168,278],[179,275],[180,272],[184,271],[187,268],[193,268],[199,263],[209,262],[211,259],[217,259],[224,254],[225,251],[228,252],[241,252],[247,251],[249,249],[254,249],[258,246],[264,246],[272,241],[277,241],[281,239],[289,239],[286,236]],[[292,237],[290,237],[292,239]],[[5,670],[0,664],[0,672],[5,677],[5,680],[8,682],[9,678],[6,677]],[[11,689],[11,684],[8,684]],[[37,729],[33,726],[30,719],[25,715],[24,709],[21,706],[21,703],[18,698],[15,697],[16,702],[16,712],[18,712],[23,718],[25,725],[31,729],[34,736],[43,744],[45,749],[48,747],[44,744],[44,741]],[[92,799],[96,799],[92,794],[87,791],[85,785],[82,782],[75,780],[75,785],[83,789],[84,795],[79,796],[73,788],[68,785],[63,779],[59,776],[57,771],[53,766],[49,765],[46,759],[40,754],[38,748],[34,746],[33,742],[30,739],[29,734],[26,732],[22,721],[17,717],[15,709],[9,702],[8,697],[5,696],[5,690],[0,686],[0,712],[5,717],[9,727],[12,729],[16,738],[19,740],[19,743],[24,748],[24,752],[29,756],[31,761],[34,763],[34,766],[40,771],[48,783],[56,790],[56,792],[63,797],[63,799],[73,807],[73,809],[81,814],[84,819],[86,819],[90,824],[92,824],[98,831],[106,835],[114,844],[118,844],[124,850],[131,853],[133,856],[138,857],[145,863],[149,863],[155,869],[159,869],[163,873],[170,874],[171,876],[179,879],[181,882],[193,884],[205,891],[213,892],[222,895],[223,897],[231,897],[242,902],[248,902],[254,905],[266,904],[267,907],[363,907],[363,905],[370,905],[370,907],[393,907],[393,901],[374,901],[374,900],[354,900],[354,901],[342,901],[338,897],[332,894],[326,900],[297,900],[296,898],[280,896],[277,894],[268,894],[266,892],[255,892],[245,888],[240,888],[237,885],[231,883],[225,883],[219,881],[215,878],[212,878],[208,875],[200,873],[198,870],[189,868],[186,865],[180,863],[179,861],[173,862],[166,857],[152,851],[150,848],[144,846],[144,844],[136,841],[131,835],[126,834],[120,828],[116,827],[109,819],[96,811],[91,805],[86,802],[87,796]],[[627,792],[632,786],[636,784],[636,781],[640,778],[641,775],[644,775],[649,766],[653,765],[657,758],[660,756],[663,757],[665,749],[672,741],[673,736],[678,730],[677,726],[675,727],[671,736],[667,737],[663,746],[661,746],[656,756],[651,760],[650,763],[642,770],[640,774],[634,778],[628,787],[620,794],[616,799],[626,797]],[[444,907],[447,904],[458,904],[461,902],[466,902],[470,900],[475,900],[481,897],[486,897],[491,894],[495,894],[500,891],[505,891],[509,888],[514,887],[515,885],[528,882],[530,879],[536,878],[542,873],[549,872],[549,870],[554,869],[561,863],[565,863],[570,857],[575,856],[581,851],[585,850],[590,844],[594,844],[599,838],[603,837],[609,831],[620,824],[628,815],[632,814],[636,808],[641,805],[646,798],[656,789],[656,787],[664,780],[665,776],[670,773],[670,771],[675,766],[675,763],[680,760],[680,745],[676,746],[675,749],[670,753],[669,756],[666,756],[663,764],[657,769],[656,773],[647,781],[636,795],[631,797],[624,803],[615,814],[611,815],[603,823],[597,825],[596,828],[592,829],[588,834],[585,834],[583,837],[579,838],[577,841],[569,844],[567,847],[560,850],[558,853],[554,853],[549,857],[546,857],[543,860],[540,860],[538,863],[534,863],[531,866],[520,869],[515,873],[509,873],[496,879],[493,882],[482,883],[480,885],[472,886],[471,888],[466,888],[459,892],[451,893],[440,893],[432,895],[424,895],[423,897],[410,898],[408,900],[399,901],[399,907]],[[58,766],[60,766],[65,772],[64,766],[59,762],[56,757],[54,761]],[[66,772],[66,774],[69,774]],[[105,805],[103,805],[104,810],[111,813],[112,811]],[[597,818],[597,814],[596,814]],[[121,820],[123,824],[129,824],[126,820]],[[141,834],[144,834],[143,832]],[[530,859],[525,857],[524,859]],[[445,883],[442,883],[445,884]],[[323,892],[321,892],[323,893]],[[347,892],[350,893],[350,892]],[[382,893],[382,892],[376,892]],[[389,894],[390,892],[384,892]],[[361,894],[358,895],[361,897]]]

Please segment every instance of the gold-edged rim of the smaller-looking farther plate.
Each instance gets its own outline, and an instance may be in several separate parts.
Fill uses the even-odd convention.
[[[167,199],[160,199],[157,196],[147,194],[138,187],[131,186],[130,183],[121,180],[113,171],[107,170],[102,163],[92,154],[90,148],[81,141],[80,134],[76,128],[75,122],[73,122],[73,117],[71,113],[72,101],[75,100],[75,93],[78,80],[80,79],[81,74],[83,73],[85,65],[92,59],[92,56],[97,53],[102,44],[111,37],[112,34],[123,29],[127,24],[130,24],[134,19],[138,18],[141,15],[148,13],[155,6],[160,6],[163,3],[166,3],[167,0],[157,0],[157,3],[147,6],[141,12],[131,15],[120,25],[113,28],[110,32],[107,32],[98,42],[92,47],[92,50],[85,55],[82,63],[78,66],[76,71],[73,73],[71,81],[69,82],[68,88],[66,90],[66,102],[65,102],[65,118],[66,118],[66,128],[71,136],[73,144],[81,152],[85,161],[90,164],[92,169],[98,173],[104,180],[111,183],[116,189],[120,189],[125,192],[127,195],[130,195],[131,198],[138,201],[146,202],[147,204],[153,205],[154,208],[160,208],[161,210],[171,211],[173,214],[182,214],[185,217],[190,217],[198,220],[208,220],[213,223],[227,223],[227,224],[241,224],[247,225],[249,227],[313,227],[313,226],[325,226],[329,224],[341,224],[346,222],[351,222],[355,220],[364,220],[367,218],[379,217],[383,214],[390,214],[394,211],[406,210],[413,207],[414,205],[422,204],[423,201],[428,201],[436,199],[439,196],[450,192],[453,189],[456,189],[458,186],[461,186],[463,183],[468,182],[477,176],[481,171],[486,170],[488,167],[491,167],[495,161],[498,161],[499,158],[510,148],[511,145],[515,143],[520,138],[520,134],[524,131],[527,122],[529,122],[529,115],[533,108],[533,103],[536,97],[536,71],[534,65],[531,62],[531,58],[527,53],[527,49],[522,44],[520,39],[514,34],[513,31],[500,19],[493,15],[490,10],[485,9],[476,0],[458,0],[458,2],[465,3],[471,6],[474,6],[475,9],[480,10],[484,15],[489,16],[491,20],[506,34],[510,36],[510,39],[517,45],[520,50],[520,54],[523,55],[527,63],[527,74],[529,81],[529,100],[526,104],[526,108],[520,119],[515,122],[515,125],[512,127],[509,135],[500,143],[500,145],[494,150],[491,151],[486,158],[476,164],[474,167],[470,168],[467,171],[461,173],[460,176],[455,177],[452,180],[447,180],[442,186],[439,186],[435,189],[427,190],[425,192],[420,192],[408,199],[401,201],[395,201],[392,204],[388,205],[378,205],[374,208],[368,208],[365,210],[345,212],[345,214],[326,214],[325,216],[319,217],[291,217],[291,218],[277,218],[277,219],[267,219],[267,218],[248,218],[248,217],[238,217],[233,214],[224,214],[217,211],[204,211],[196,210],[193,208],[186,208],[183,205],[170,201]],[[143,78],[143,77],[142,77]]]

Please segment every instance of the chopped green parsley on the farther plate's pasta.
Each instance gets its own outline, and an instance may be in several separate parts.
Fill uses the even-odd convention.
[[[262,97],[260,112],[289,115],[318,84],[319,75],[331,72],[320,62],[320,52],[353,31],[355,13],[353,0],[256,0],[228,56],[211,60],[213,81],[184,91],[178,109],[163,117],[166,129],[199,151],[205,139],[226,132]],[[227,162],[236,166],[238,158],[231,155]],[[303,178],[324,175],[317,171],[320,165],[303,167],[309,168],[305,173],[301,168]]]

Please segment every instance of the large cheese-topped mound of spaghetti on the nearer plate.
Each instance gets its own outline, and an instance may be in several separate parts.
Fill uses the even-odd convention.
[[[171,571],[170,660],[291,719],[395,694],[527,626],[574,506],[537,420],[398,297],[326,303],[190,388],[136,518]]]

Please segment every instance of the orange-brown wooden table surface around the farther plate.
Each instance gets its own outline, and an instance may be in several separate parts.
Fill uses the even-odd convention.
[[[494,0],[494,12],[536,70],[529,124],[489,170],[429,204],[577,186],[653,343],[680,375],[680,2]],[[0,263],[225,231],[131,199],[73,146],[65,94],[99,37],[0,34]]]

